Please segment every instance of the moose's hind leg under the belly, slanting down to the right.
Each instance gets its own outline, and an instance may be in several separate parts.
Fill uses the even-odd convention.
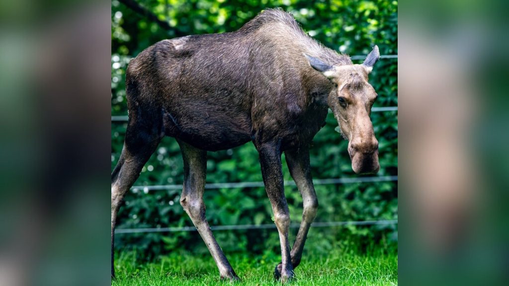
[[[184,188],[180,204],[189,215],[192,223],[207,245],[210,254],[219,269],[220,278],[239,280],[230,262],[217,244],[209,223],[205,217],[203,193],[205,191],[205,177],[207,171],[207,151],[194,148],[185,142],[178,141],[184,159]]]

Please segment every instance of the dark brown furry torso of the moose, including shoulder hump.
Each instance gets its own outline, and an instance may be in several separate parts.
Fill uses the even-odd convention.
[[[164,135],[208,151],[276,137],[281,151],[306,144],[325,122],[332,84],[304,54],[352,64],[279,10],[233,33],[163,40],[129,64],[130,120],[150,112]]]

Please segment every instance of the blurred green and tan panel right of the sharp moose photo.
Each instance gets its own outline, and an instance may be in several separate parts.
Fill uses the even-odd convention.
[[[402,284],[509,281],[508,9],[475,0],[400,6]]]

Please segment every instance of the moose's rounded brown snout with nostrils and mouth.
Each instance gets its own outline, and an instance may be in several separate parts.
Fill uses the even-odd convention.
[[[378,140],[353,139],[348,146],[348,153],[352,160],[352,169],[356,174],[376,174],[380,170],[378,163]]]

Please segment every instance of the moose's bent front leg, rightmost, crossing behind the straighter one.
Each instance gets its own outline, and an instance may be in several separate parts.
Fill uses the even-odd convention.
[[[309,226],[316,217],[318,210],[318,200],[313,186],[313,179],[309,167],[309,149],[301,147],[295,150],[285,151],[285,157],[295,184],[297,185],[303,201],[302,221],[300,223],[297,238],[292,247],[292,265],[296,268],[302,258],[302,250],[306,241]],[[281,263],[276,266],[274,271],[277,277],[281,273]]]

